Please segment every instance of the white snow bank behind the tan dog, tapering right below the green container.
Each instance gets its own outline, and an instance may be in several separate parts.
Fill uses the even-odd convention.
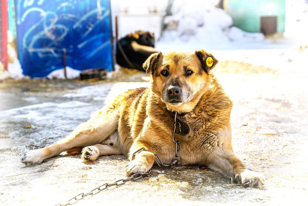
[[[170,9],[172,15],[164,18],[166,29],[156,49],[246,49],[243,47],[248,42],[253,46],[265,43],[261,33],[231,27],[232,17],[217,8],[218,3],[219,0],[175,0]]]

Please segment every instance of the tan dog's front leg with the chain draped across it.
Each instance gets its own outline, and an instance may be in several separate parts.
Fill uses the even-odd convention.
[[[147,145],[146,142],[141,142],[138,139],[132,144],[129,155],[129,160],[131,160],[131,162],[125,166],[125,171],[128,176],[137,172],[147,172],[153,166],[155,156],[152,152],[140,151],[135,155],[134,159],[132,159],[132,154],[142,147],[151,151]]]

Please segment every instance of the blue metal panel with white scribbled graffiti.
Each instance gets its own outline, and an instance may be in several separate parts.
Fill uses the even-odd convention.
[[[109,0],[15,0],[23,73],[47,76],[67,66],[112,70]]]

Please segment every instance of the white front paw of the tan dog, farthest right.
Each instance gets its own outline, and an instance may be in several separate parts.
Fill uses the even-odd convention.
[[[250,170],[244,170],[240,174],[235,175],[235,180],[237,180],[238,184],[244,185],[244,187],[261,188],[266,183],[264,175]]]

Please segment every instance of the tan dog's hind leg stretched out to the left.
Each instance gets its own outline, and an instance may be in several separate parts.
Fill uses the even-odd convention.
[[[59,142],[41,149],[30,150],[21,158],[21,162],[27,166],[39,164],[45,159],[59,155],[70,148],[101,143],[115,132],[118,121],[119,108],[104,108],[104,111],[100,110],[93,113],[87,122],[80,124],[71,134]]]

